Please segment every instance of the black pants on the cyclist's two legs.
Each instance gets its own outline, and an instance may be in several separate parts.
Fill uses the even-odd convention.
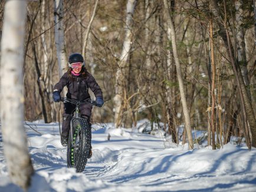
[[[83,104],[80,105],[80,114],[81,117],[86,118],[88,124],[90,125],[90,118],[91,118],[91,109],[93,107],[90,104]],[[61,136],[68,137],[70,133],[70,121],[73,117],[73,113],[76,110],[76,105],[71,104],[70,102],[64,102],[64,113],[63,113],[63,123],[62,123],[62,132]]]

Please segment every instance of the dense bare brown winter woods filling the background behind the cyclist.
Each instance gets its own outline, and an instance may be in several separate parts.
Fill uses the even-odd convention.
[[[185,125],[189,140],[192,129],[208,130],[214,148],[232,135],[256,147],[254,4],[28,1],[25,120],[60,121],[52,85],[67,69],[68,55],[80,52],[106,101],[94,109],[93,122],[130,128],[147,118],[175,143],[179,125]]]

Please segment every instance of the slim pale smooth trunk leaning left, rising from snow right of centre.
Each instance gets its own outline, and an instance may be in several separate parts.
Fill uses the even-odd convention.
[[[165,5],[165,11],[168,16],[168,24],[169,24],[169,27],[171,30],[170,33],[171,33],[171,40],[172,40],[173,57],[174,57],[176,69],[177,69],[180,97],[181,97],[181,101],[182,101],[183,114],[185,117],[185,127],[186,127],[187,134],[188,134],[189,149],[192,149],[193,148],[193,138],[192,138],[192,131],[191,131],[191,123],[190,123],[190,117],[189,117],[189,112],[188,112],[188,105],[186,103],[184,85],[183,85],[183,80],[182,80],[182,72],[181,72],[180,63],[179,63],[179,56],[178,56],[178,52],[177,52],[175,28],[173,25],[172,16],[170,15],[170,9],[169,9],[167,0],[163,0],[163,3]]]

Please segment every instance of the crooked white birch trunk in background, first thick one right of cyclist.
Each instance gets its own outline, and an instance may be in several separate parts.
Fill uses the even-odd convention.
[[[126,26],[125,37],[123,41],[122,54],[120,55],[120,61],[116,71],[116,90],[114,96],[114,125],[116,128],[120,126],[122,117],[122,102],[123,102],[123,87],[124,77],[123,68],[126,66],[127,59],[129,57],[130,48],[132,46],[132,22],[133,13],[136,6],[137,0],[128,0],[126,5]]]

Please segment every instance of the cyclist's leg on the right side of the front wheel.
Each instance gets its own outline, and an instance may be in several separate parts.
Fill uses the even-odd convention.
[[[91,120],[91,110],[92,110],[92,106],[90,104],[84,104],[84,105],[81,105],[80,106],[80,113],[81,113],[81,117],[82,118],[85,118],[87,120],[87,123],[89,125],[89,142],[90,142],[90,155],[88,158],[91,158],[91,156],[93,155],[93,151],[91,150],[91,123],[90,123],[90,120]]]

